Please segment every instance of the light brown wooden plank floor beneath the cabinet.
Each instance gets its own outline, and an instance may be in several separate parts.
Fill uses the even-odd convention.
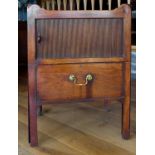
[[[131,138],[120,136],[121,105],[110,112],[102,102],[43,106],[38,117],[37,147],[30,147],[27,133],[27,75],[19,76],[19,155],[135,155],[135,82],[131,96]]]

